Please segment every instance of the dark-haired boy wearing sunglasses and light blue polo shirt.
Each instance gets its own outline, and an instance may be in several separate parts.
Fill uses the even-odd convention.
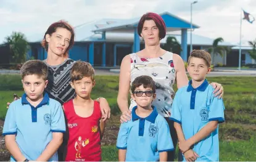
[[[117,137],[118,161],[167,161],[174,149],[170,129],[157,108],[155,83],[150,76],[139,76],[131,85],[131,97],[137,103],[131,121],[122,123]]]

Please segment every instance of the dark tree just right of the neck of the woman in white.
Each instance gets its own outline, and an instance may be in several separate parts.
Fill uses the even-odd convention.
[[[168,36],[166,43],[163,44],[162,48],[175,54],[180,54],[182,51],[180,43],[173,36]]]

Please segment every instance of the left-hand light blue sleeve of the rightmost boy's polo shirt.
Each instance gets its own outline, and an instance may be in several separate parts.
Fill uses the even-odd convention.
[[[179,89],[174,97],[173,105],[171,106],[171,117],[170,119],[175,121],[176,123],[181,124],[181,89]]]

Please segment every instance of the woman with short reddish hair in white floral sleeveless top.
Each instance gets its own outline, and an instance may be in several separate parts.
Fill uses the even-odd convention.
[[[171,116],[171,104],[175,91],[173,85],[180,87],[188,85],[188,76],[184,62],[180,55],[165,51],[160,47],[160,40],[165,38],[166,26],[160,15],[149,12],[142,15],[138,24],[138,34],[144,39],[145,48],[137,53],[126,55],[121,63],[119,77],[119,91],[117,103],[122,111],[120,121],[126,122],[131,119],[131,109],[136,102],[131,99],[128,107],[128,93],[130,84],[141,75],[151,76],[155,81],[156,99],[152,102],[157,111],[162,115],[170,127],[173,145],[176,147],[177,135],[173,127]],[[221,84],[212,83],[216,95],[222,97],[223,87]],[[216,96],[215,95],[215,96]],[[175,150],[168,152],[168,161],[174,161]]]

